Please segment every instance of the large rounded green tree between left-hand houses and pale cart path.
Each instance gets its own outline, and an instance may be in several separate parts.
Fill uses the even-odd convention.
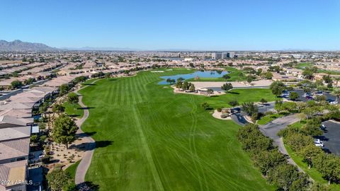
[[[71,117],[67,115],[60,115],[53,124],[52,137],[58,144],[65,144],[66,148],[69,148],[76,139],[77,125]]]

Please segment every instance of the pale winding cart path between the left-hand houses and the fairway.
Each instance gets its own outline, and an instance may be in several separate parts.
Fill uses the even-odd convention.
[[[90,84],[94,84],[96,83],[96,81],[98,81],[99,79],[92,81]],[[94,149],[96,148],[96,141],[94,141],[94,139],[91,138],[91,136],[89,136],[88,134],[84,133],[81,130],[81,125],[83,124],[83,122],[85,122],[85,120],[87,119],[87,117],[89,117],[89,109],[87,108],[87,106],[82,102],[83,100],[83,96],[81,96],[80,93],[78,93],[79,90],[88,87],[84,86],[82,88],[79,88],[78,90],[75,90],[74,93],[76,93],[78,95],[79,98],[79,105],[81,106],[81,108],[84,109],[84,116],[81,117],[81,119],[77,120],[77,126],[79,127],[77,134],[79,137],[81,137],[81,139],[84,140],[85,143],[85,154],[83,156],[83,158],[81,159],[77,170],[76,170],[76,177],[75,177],[75,183],[77,185],[78,190],[90,190],[89,187],[86,186],[85,183],[85,175],[86,175],[86,171],[89,169],[90,164],[91,164],[91,159],[92,156],[94,155]]]

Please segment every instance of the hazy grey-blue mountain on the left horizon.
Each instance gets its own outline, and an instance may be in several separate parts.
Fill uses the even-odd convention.
[[[55,47],[49,47],[42,43],[23,42],[21,40],[13,40],[7,42],[6,40],[0,40],[0,52],[20,52],[20,51],[57,51],[59,49]]]

